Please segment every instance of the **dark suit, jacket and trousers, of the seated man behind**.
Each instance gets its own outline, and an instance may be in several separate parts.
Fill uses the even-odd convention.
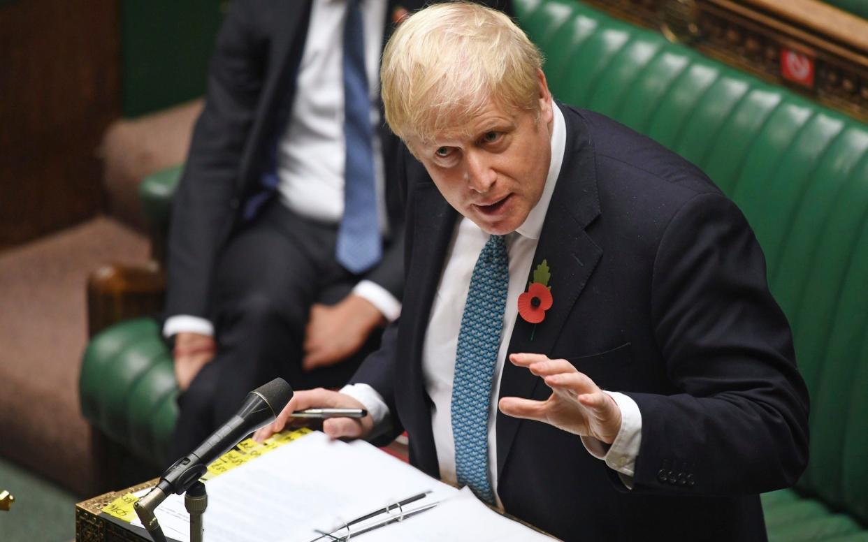
[[[505,0],[487,3],[510,12],[510,4]],[[423,5],[423,0],[390,1],[385,11],[384,44],[394,29],[396,11],[418,10]],[[215,304],[223,302],[215,299],[214,285],[221,280],[218,268],[227,267],[227,258],[220,259],[225,257],[227,240],[255,228],[257,220],[262,220],[264,214],[272,221],[274,215],[279,214],[274,212],[277,206],[273,202],[274,186],[264,186],[263,175],[274,172],[275,145],[283,135],[293,108],[299,62],[307,32],[313,30],[308,28],[311,6],[311,0],[235,0],[231,3],[211,61],[205,109],[196,123],[187,165],[174,198],[169,238],[168,316],[209,318],[220,312],[221,307],[215,307]],[[380,118],[383,118],[382,111]],[[385,204],[391,238],[385,240],[382,260],[358,280],[379,284],[400,299],[403,290],[403,210],[396,182],[396,164],[401,144],[385,127],[385,122],[379,128],[379,136],[385,164]],[[290,222],[282,227],[293,229],[294,225]],[[307,245],[305,250],[323,250],[321,246],[324,244],[318,238],[306,238],[304,243]],[[275,254],[274,259],[278,258]],[[251,273],[257,271],[249,269],[249,265],[241,265],[238,271],[232,272],[240,274],[248,270]],[[302,333],[311,303],[335,303],[352,288],[346,283],[336,287],[315,284],[317,280],[327,281],[328,278],[315,276],[309,281],[311,284],[305,280],[298,281],[302,284],[298,299],[293,300],[298,307],[293,309],[291,318],[297,321],[293,327]],[[233,303],[233,299],[230,298],[228,303]],[[221,323],[214,324],[220,352],[224,347],[220,339]],[[287,338],[291,345],[286,350],[300,349],[303,339],[303,336]],[[290,358],[293,353],[286,351],[280,355]],[[263,375],[261,370],[247,373],[245,369],[252,364],[247,367],[235,365],[230,369],[233,378],[220,378],[220,386],[207,382],[217,379],[208,375],[217,370],[214,362],[207,364],[191,385],[191,391],[207,387],[207,392],[199,395],[203,395],[202,401],[215,402],[214,423],[232,415],[247,391],[278,375]],[[340,385],[352,374],[354,367],[338,365],[317,369],[312,374],[302,374],[300,369],[291,365],[284,369],[294,373],[280,375],[290,380],[293,386],[304,388]],[[188,401],[192,395],[187,394]],[[216,396],[209,399],[211,395]],[[176,435],[189,435],[188,441],[198,442],[198,434],[204,437],[211,429],[205,428],[203,433],[201,425],[200,420],[187,419],[182,413]],[[174,450],[173,456],[186,454],[188,450],[181,449],[186,446]]]

